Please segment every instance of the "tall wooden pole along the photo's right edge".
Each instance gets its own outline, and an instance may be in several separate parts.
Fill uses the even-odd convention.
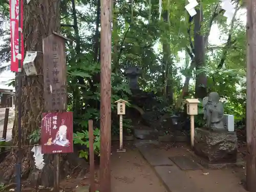
[[[247,74],[246,74],[246,136],[248,156],[246,162],[246,186],[256,192],[256,1],[247,3]]]

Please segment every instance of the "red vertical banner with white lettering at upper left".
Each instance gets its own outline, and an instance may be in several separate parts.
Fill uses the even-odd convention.
[[[18,19],[19,19],[19,11],[18,4],[20,2],[20,29],[18,28]],[[10,23],[11,23],[11,71],[18,72],[18,32],[19,30],[23,30],[23,0],[10,0]],[[24,60],[24,43],[23,43],[23,34],[21,40],[21,57],[22,64]]]

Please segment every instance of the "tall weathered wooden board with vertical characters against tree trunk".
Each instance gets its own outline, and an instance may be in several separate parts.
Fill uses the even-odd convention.
[[[53,33],[42,40],[44,52],[44,98],[46,111],[67,110],[65,38]]]

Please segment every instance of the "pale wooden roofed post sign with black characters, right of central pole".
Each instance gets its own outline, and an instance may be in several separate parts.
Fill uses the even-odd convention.
[[[119,150],[117,152],[125,152],[125,149],[123,148],[123,115],[125,115],[125,103],[127,101],[119,99],[115,101],[117,103],[117,115],[119,115]]]

